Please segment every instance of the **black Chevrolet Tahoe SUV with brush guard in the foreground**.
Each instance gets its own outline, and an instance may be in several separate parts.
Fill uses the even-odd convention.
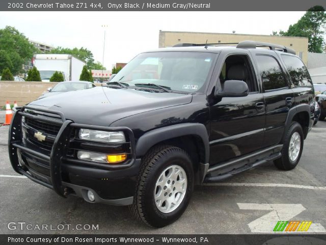
[[[314,103],[305,65],[285,46],[178,44],[138,55],[105,86],[18,108],[9,156],[62,197],[130,205],[162,227],[184,212],[194,184],[269,161],[294,168]]]

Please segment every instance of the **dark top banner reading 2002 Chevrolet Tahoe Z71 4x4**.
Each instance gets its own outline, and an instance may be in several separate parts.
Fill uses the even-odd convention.
[[[316,5],[326,8],[326,1],[2,0],[0,11],[307,11]]]

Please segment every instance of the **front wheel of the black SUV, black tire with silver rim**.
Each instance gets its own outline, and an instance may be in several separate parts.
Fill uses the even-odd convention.
[[[178,174],[172,177],[170,174],[177,170]],[[189,155],[175,146],[155,146],[142,160],[129,210],[148,226],[164,227],[182,215],[193,190],[194,169]],[[171,200],[175,205],[168,204]]]

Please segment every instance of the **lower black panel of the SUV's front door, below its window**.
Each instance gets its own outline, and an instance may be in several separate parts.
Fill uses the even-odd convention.
[[[225,97],[210,108],[210,164],[218,164],[262,147],[265,110],[261,93]]]

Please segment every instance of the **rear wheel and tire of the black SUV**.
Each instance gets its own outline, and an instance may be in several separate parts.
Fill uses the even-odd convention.
[[[274,160],[274,164],[279,169],[291,170],[295,168],[300,161],[304,147],[304,134],[298,122],[292,122],[290,128],[286,132],[283,143],[284,145],[281,150],[282,157]],[[299,146],[300,149],[297,149]],[[291,149],[293,149],[293,151]]]

